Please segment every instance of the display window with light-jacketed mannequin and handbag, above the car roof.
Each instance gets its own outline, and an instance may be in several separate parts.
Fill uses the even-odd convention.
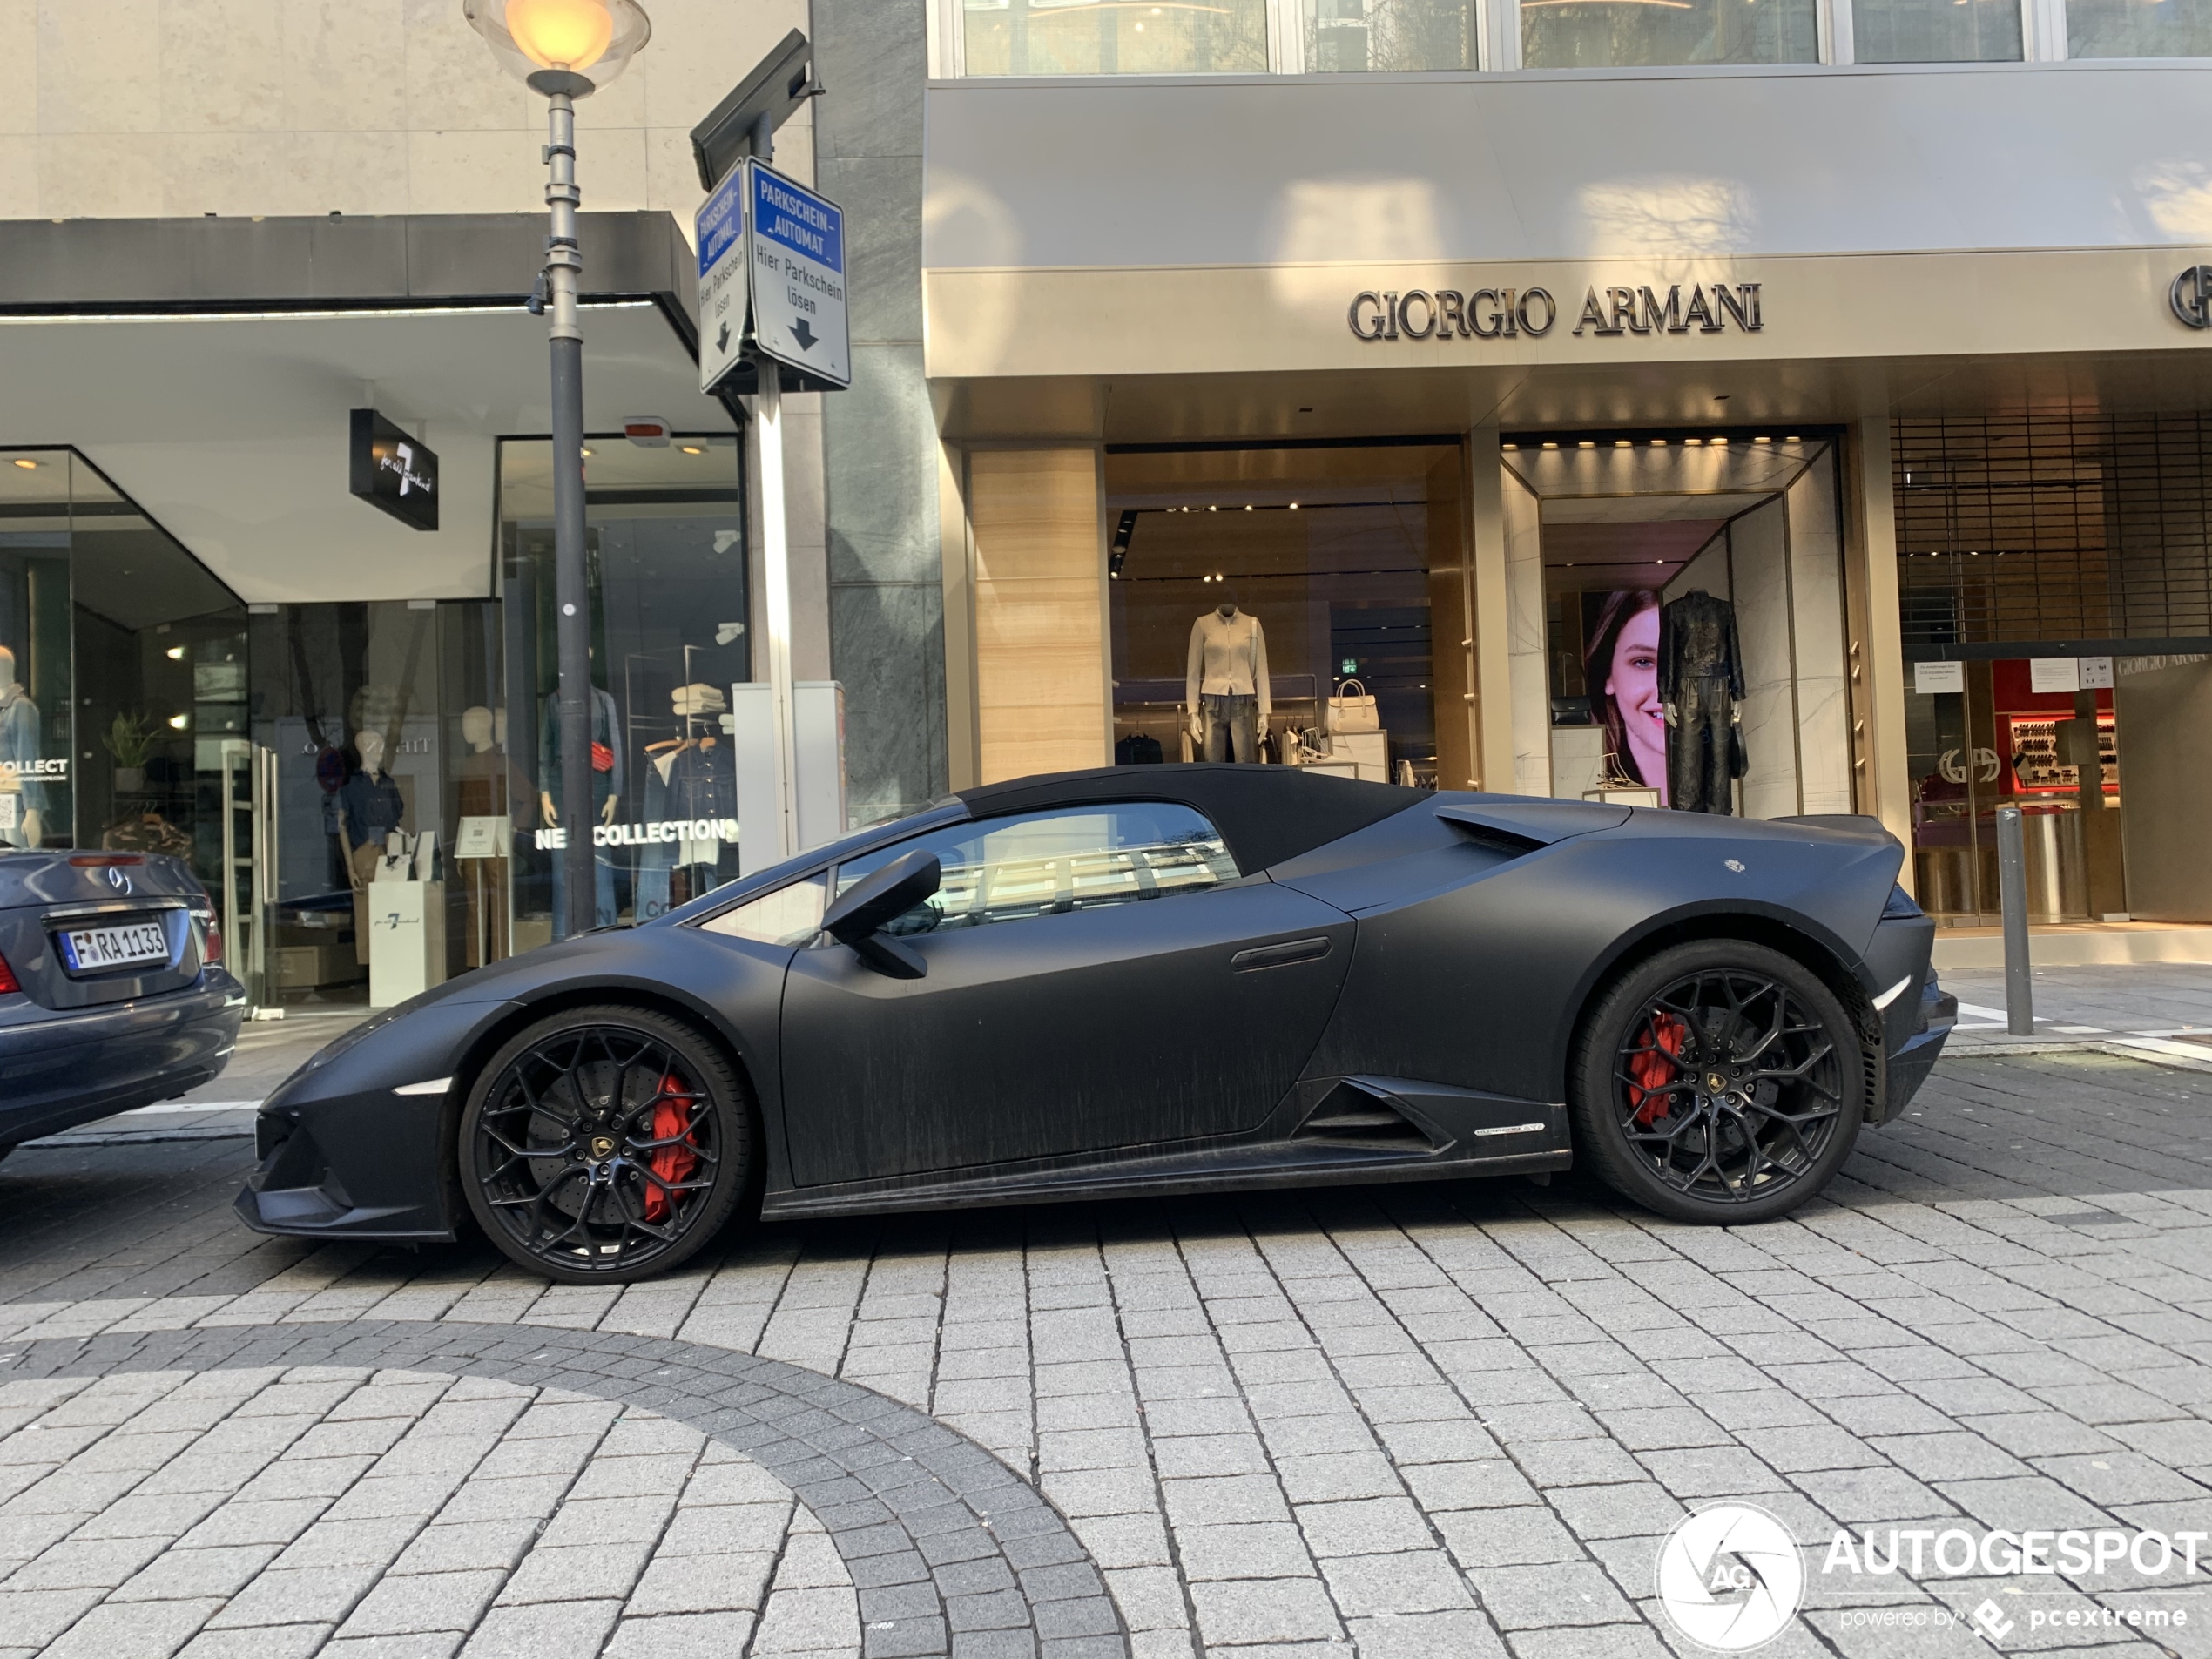
[[[1115,761],[1467,787],[1464,465],[1108,447]]]

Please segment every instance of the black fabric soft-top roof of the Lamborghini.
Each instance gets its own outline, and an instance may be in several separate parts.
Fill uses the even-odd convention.
[[[1296,765],[1197,761],[1046,772],[958,790],[958,799],[978,818],[1093,801],[1179,801],[1212,818],[1230,843],[1237,867],[1250,876],[1405,812],[1416,801],[1429,799],[1429,792],[1402,790],[1396,783],[1356,783]]]

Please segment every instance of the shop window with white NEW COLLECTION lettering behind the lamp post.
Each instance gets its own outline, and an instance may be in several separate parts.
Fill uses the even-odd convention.
[[[752,679],[737,438],[584,449],[591,584],[591,914],[644,922],[739,876],[737,712]],[[513,947],[566,936],[553,471],[546,440],[500,445],[507,719],[526,768],[515,825]]]

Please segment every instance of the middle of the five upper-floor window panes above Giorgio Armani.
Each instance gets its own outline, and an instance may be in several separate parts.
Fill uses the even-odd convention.
[[[1814,0],[1520,0],[1526,69],[1812,64]]]

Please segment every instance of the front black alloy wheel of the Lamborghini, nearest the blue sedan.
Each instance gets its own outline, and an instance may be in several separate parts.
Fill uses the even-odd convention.
[[[509,1042],[460,1117],[469,1210],[513,1261],[571,1285],[668,1272],[730,1221],[752,1170],[730,1062],[646,1009],[571,1009]]]

